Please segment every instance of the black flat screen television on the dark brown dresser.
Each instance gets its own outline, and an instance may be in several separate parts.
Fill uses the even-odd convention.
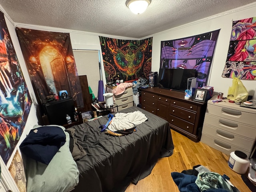
[[[195,69],[159,69],[159,88],[172,89],[184,92],[188,88],[188,78],[197,76]]]

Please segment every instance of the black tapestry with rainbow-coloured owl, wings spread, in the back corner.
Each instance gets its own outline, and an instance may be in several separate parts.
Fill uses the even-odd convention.
[[[100,36],[100,45],[108,83],[140,77],[148,79],[151,71],[152,37],[144,40],[120,40]]]

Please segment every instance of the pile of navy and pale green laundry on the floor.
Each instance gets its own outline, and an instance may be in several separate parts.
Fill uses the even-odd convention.
[[[202,165],[181,173],[172,172],[171,175],[180,192],[240,192],[228,176],[211,172]]]

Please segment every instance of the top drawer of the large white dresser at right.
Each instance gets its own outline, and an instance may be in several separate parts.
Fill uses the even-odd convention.
[[[233,103],[233,105],[236,105],[236,104]],[[249,124],[249,125],[255,124],[254,123],[255,117],[256,117],[255,112],[254,113],[244,112],[244,111],[242,111],[242,110],[244,110],[243,107],[240,107],[239,105],[231,106],[230,108],[228,108],[229,107],[228,105],[226,107],[224,107],[224,106],[225,105],[221,105],[221,104],[217,104],[217,103],[209,104],[209,102],[208,102],[206,112],[209,114],[212,114],[213,116],[226,118],[231,121],[241,122],[241,123]],[[242,110],[240,110],[240,109],[242,109]]]

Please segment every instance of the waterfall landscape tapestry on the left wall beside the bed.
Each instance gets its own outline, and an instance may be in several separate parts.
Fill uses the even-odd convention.
[[[31,104],[4,14],[0,12],[0,154],[5,164],[22,135]]]

